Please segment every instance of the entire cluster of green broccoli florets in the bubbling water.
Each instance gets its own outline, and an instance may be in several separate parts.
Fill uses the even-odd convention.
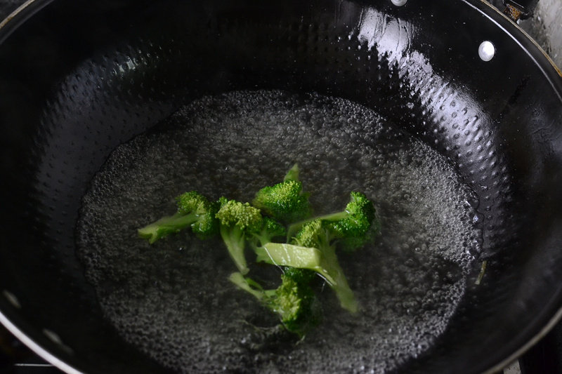
[[[351,192],[344,211],[310,218],[308,193],[302,191],[295,164],[282,182],[260,189],[253,205],[226,197],[211,202],[197,192],[176,199],[176,214],[139,229],[138,234],[150,243],[185,227],[203,239],[220,234],[238,269],[230,281],[277,314],[288,331],[302,338],[319,323],[320,307],[311,288],[317,274],[335,291],[341,307],[358,311],[336,248],[353,251],[377,231],[374,206],[364,194]],[[278,239],[285,242],[275,242]],[[277,288],[264,290],[245,276],[247,246],[256,253],[257,262],[283,267]]]

